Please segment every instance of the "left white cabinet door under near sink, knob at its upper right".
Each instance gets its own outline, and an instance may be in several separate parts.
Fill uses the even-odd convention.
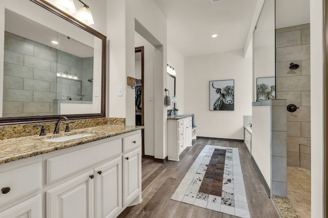
[[[48,218],[94,217],[93,171],[77,176],[46,192]]]

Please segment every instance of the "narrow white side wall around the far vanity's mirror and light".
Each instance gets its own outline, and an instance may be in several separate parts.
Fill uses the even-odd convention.
[[[176,108],[179,109],[179,114],[185,113],[185,57],[176,49],[176,47],[168,42],[168,64],[176,71],[175,76],[175,93],[179,101],[176,103]],[[173,93],[173,92],[172,92]],[[172,96],[173,94],[171,94]],[[173,104],[172,104],[173,105]],[[170,106],[168,109],[171,109]]]

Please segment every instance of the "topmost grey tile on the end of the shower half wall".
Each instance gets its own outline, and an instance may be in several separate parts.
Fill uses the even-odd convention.
[[[271,107],[271,130],[272,131],[286,131],[286,107],[272,106]]]

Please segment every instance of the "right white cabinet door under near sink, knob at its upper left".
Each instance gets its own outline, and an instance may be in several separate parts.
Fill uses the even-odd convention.
[[[114,217],[122,208],[122,158],[94,170],[96,217]]]

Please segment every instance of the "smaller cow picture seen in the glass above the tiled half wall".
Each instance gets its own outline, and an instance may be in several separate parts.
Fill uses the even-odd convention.
[[[261,102],[276,98],[275,77],[256,78],[256,101]]]

